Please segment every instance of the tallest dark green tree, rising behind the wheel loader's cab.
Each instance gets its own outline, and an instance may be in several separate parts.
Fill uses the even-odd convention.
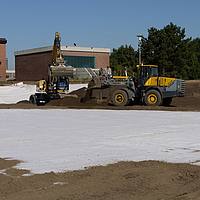
[[[188,79],[187,44],[185,29],[170,23],[161,30],[148,29],[148,37],[142,39],[142,61],[159,66],[159,72],[176,78]]]

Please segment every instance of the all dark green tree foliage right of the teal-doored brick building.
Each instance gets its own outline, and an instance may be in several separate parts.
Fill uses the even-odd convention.
[[[159,74],[182,79],[200,79],[200,39],[185,38],[185,29],[170,23],[163,29],[148,29],[142,38],[143,64],[158,65]],[[113,49],[110,65],[120,71],[124,67],[136,71],[138,51],[125,45]],[[163,74],[164,73],[164,74]]]

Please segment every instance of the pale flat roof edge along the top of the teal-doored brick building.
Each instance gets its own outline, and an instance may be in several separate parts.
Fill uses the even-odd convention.
[[[52,51],[53,46],[48,47],[41,47],[41,48],[34,48],[34,49],[27,49],[22,51],[15,51],[15,56],[20,55],[27,55],[33,53],[41,53]],[[79,52],[99,52],[99,53],[110,53],[110,48],[96,48],[96,47],[77,47],[77,46],[61,46],[62,51],[79,51]]]

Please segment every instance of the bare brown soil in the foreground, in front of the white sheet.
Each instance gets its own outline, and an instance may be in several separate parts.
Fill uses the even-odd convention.
[[[200,167],[158,161],[119,162],[86,170],[29,173],[0,159],[0,199],[199,199]]]

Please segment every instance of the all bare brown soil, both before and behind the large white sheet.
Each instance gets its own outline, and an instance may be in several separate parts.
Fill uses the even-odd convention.
[[[11,83],[3,83],[6,85]],[[31,82],[27,84],[32,84]],[[73,91],[72,96],[52,100],[44,106],[21,101],[1,104],[0,109],[106,109],[200,111],[200,81],[186,81],[187,96],[173,98],[170,106],[147,107],[132,103],[116,107],[111,103],[98,104],[95,99],[81,102],[86,88]],[[77,97],[76,97],[77,96]],[[198,140],[198,138],[197,138]],[[164,142],[164,141],[163,141]],[[134,145],[134,144],[133,144]],[[198,150],[200,151],[200,150]],[[0,170],[9,170],[9,176],[0,174],[0,199],[200,199],[200,166],[162,161],[119,162],[94,166],[65,173],[45,173],[33,176],[26,170],[12,168],[20,161],[0,158]]]

